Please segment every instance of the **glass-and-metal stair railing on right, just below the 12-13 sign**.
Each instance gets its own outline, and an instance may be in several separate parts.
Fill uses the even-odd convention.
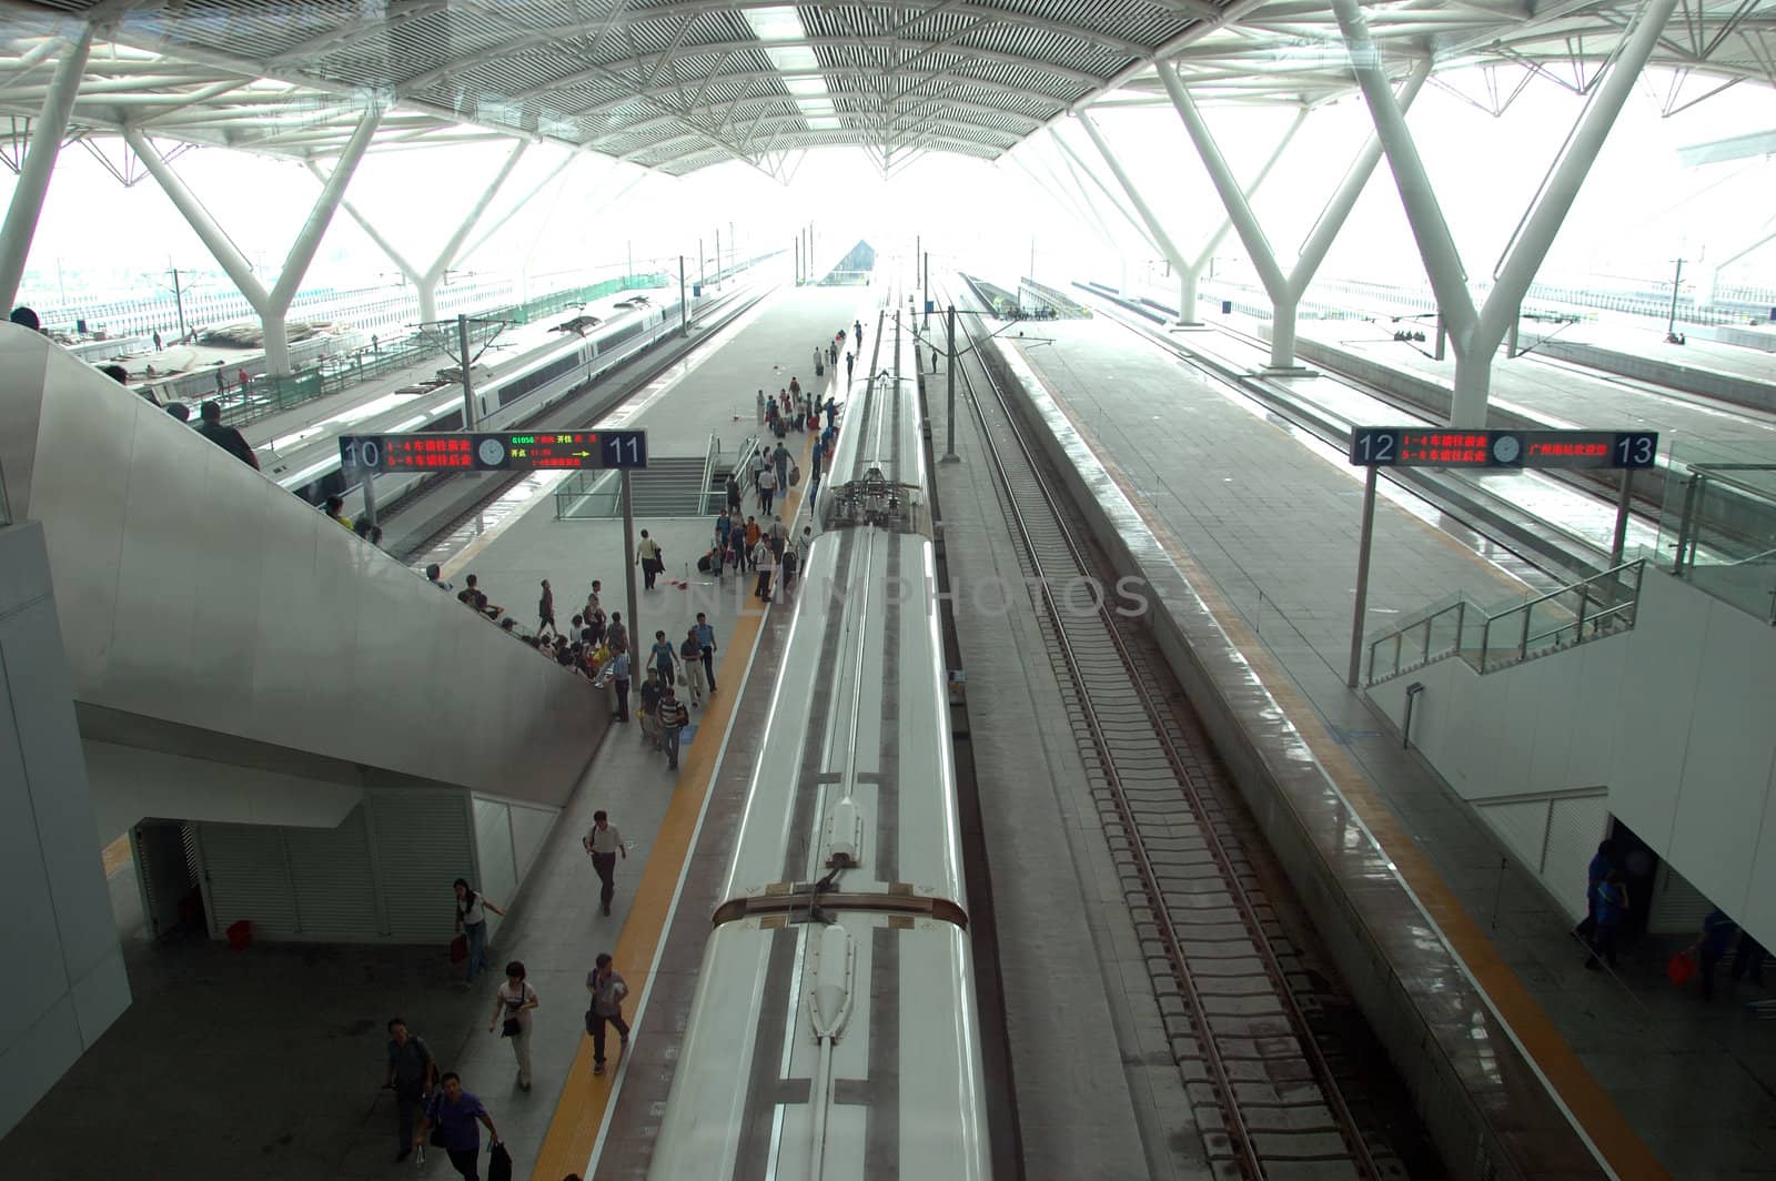
[[[1646,561],[1637,558],[1501,611],[1487,611],[1465,595],[1456,595],[1375,639],[1369,645],[1368,684],[1451,655],[1478,673],[1494,673],[1627,630],[1634,627],[1645,574]]]

